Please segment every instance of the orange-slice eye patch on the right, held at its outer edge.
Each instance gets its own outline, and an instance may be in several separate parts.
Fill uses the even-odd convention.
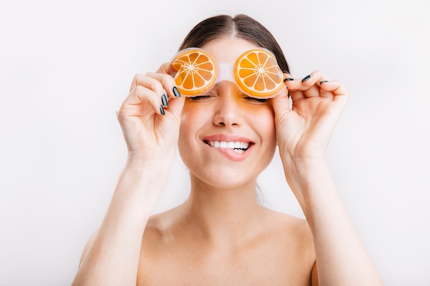
[[[238,86],[253,97],[273,97],[285,87],[284,74],[266,49],[242,53],[234,66],[234,77]]]

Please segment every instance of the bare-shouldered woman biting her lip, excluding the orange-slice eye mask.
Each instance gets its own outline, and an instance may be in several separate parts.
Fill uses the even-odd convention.
[[[249,16],[202,21],[179,50],[190,47],[216,62],[268,49],[286,88],[262,99],[221,80],[185,97],[173,64],[135,75],[117,111],[126,166],[73,285],[382,285],[324,158],[346,89],[319,71],[291,77],[278,43]],[[150,216],[177,145],[190,197]],[[306,220],[256,202],[257,177],[277,145]]]

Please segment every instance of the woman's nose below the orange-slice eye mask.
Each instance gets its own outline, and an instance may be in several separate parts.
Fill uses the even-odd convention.
[[[216,126],[240,126],[243,117],[240,101],[236,91],[237,87],[229,82],[220,88],[220,95],[214,112],[214,124]]]

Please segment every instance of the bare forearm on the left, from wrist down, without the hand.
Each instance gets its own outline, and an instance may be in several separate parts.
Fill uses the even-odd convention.
[[[142,236],[156,202],[142,190],[163,189],[150,179],[159,174],[142,173],[133,164],[124,168],[102,225],[82,254],[73,285],[136,285]]]

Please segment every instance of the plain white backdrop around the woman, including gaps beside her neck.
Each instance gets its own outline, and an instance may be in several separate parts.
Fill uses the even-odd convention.
[[[0,4],[1,286],[70,285],[124,166],[115,110],[133,75],[224,12],[266,25],[295,77],[320,69],[346,84],[328,150],[341,198],[385,285],[430,285],[429,1],[10,0]],[[278,157],[259,184],[266,206],[302,217]],[[187,188],[177,158],[154,212]]]

